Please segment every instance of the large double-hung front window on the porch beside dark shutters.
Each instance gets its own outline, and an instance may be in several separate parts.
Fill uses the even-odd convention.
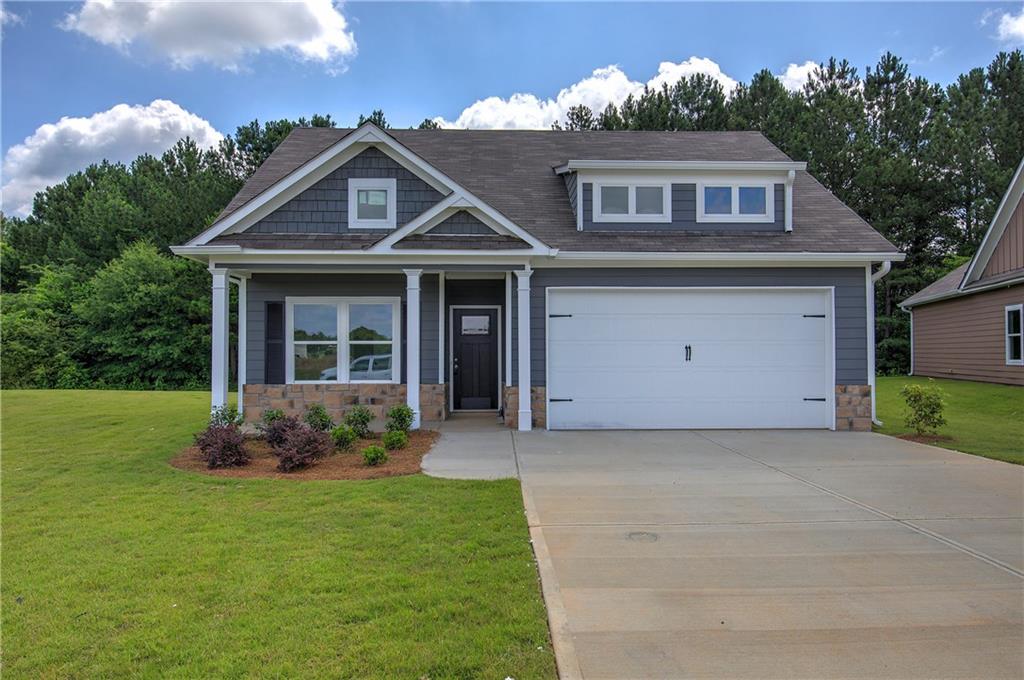
[[[396,383],[398,298],[289,298],[289,383]]]

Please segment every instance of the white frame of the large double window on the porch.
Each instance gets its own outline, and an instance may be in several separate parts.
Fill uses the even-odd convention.
[[[338,379],[337,380],[296,380],[295,379],[295,305],[326,304],[338,309]],[[352,304],[391,305],[391,379],[390,380],[349,380],[348,307]],[[331,344],[330,341],[313,344]],[[374,342],[367,344],[387,344]],[[289,385],[338,385],[338,384],[400,384],[401,382],[401,298],[398,297],[286,297],[285,298],[285,382]]]

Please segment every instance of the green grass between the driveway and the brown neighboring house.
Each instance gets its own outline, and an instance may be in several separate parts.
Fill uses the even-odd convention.
[[[893,435],[912,432],[903,423],[906,403],[899,390],[908,383],[928,381],[928,378],[879,378],[877,411],[885,426],[877,431]],[[1024,387],[967,380],[934,382],[946,393],[947,422],[939,434],[952,437],[936,441],[936,447],[1024,464]]]

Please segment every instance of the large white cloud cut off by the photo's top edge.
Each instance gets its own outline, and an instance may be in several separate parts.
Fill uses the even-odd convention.
[[[356,52],[332,0],[86,0],[61,28],[121,50],[144,47],[182,69],[207,62],[237,71],[246,57],[271,51],[337,73]]]

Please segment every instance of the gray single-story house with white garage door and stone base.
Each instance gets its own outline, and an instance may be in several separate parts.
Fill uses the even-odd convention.
[[[888,241],[754,132],[294,130],[175,253],[247,419],[868,429]]]

